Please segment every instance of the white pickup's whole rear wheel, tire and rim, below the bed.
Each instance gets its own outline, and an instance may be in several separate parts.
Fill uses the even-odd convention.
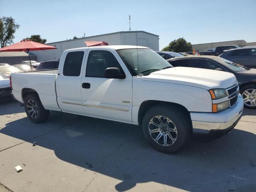
[[[25,97],[24,107],[28,118],[33,123],[45,122],[49,118],[50,110],[44,109],[36,93],[30,93]]]

